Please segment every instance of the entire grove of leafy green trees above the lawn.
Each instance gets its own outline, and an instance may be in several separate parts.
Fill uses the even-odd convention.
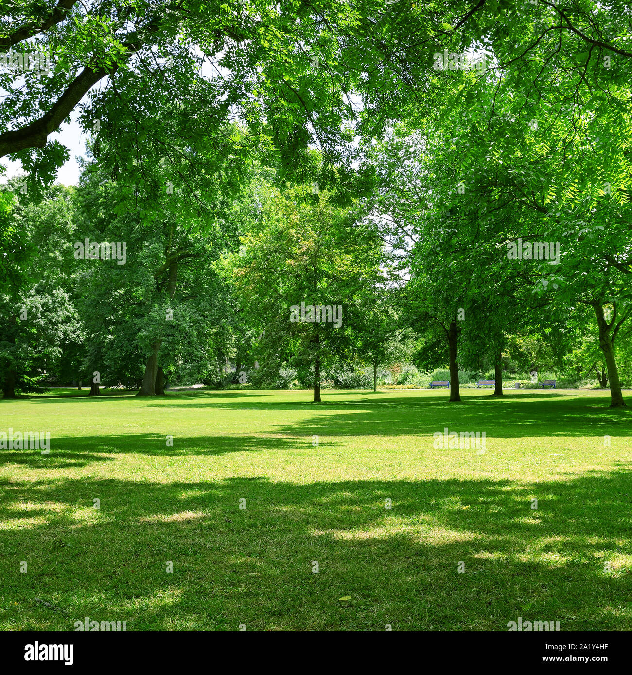
[[[533,371],[625,407],[631,8],[444,4],[9,3],[3,396],[320,402],[406,367],[449,371],[451,402],[464,371],[495,396]],[[71,113],[87,151],[63,186]]]

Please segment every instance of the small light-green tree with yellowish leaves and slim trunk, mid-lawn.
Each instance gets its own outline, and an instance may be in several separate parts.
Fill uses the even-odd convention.
[[[265,184],[257,192],[260,219],[243,237],[245,256],[233,255],[228,269],[266,341],[287,335],[285,348],[311,364],[320,402],[322,369],[348,342],[347,322],[362,288],[376,278],[379,242],[326,192],[306,198],[303,188],[281,193]]]

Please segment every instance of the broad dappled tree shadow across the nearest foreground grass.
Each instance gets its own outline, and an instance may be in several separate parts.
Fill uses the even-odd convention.
[[[128,630],[506,630],[518,616],[632,628],[632,574],[617,562],[632,554],[623,463],[533,484],[86,477],[0,489],[0,520],[23,519],[0,558],[0,620],[16,628],[72,630],[84,616]]]

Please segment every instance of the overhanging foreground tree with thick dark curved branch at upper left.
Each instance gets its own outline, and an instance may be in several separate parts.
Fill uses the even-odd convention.
[[[249,128],[248,143],[278,152],[285,168],[309,172],[310,144],[333,165],[343,146],[351,148],[347,123],[379,130],[428,80],[418,26],[439,25],[445,11],[405,3],[381,9],[373,0],[354,7],[342,0],[12,6],[0,17],[0,55],[16,61],[0,73],[7,92],[0,157],[20,159],[32,180],[51,180],[68,151],[49,136],[78,109],[84,132],[108,144],[112,163],[132,182],[139,157],[176,157],[184,145],[198,151],[222,140],[231,120]],[[24,65],[24,53],[37,53],[36,68]],[[366,101],[370,120],[351,92]],[[247,155],[243,141],[233,146],[235,161]]]

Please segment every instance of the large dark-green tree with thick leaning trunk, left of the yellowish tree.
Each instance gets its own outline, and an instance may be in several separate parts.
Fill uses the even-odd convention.
[[[78,244],[87,238],[124,248],[121,260],[76,265],[87,365],[105,371],[110,385],[139,386],[139,396],[163,394],[166,374],[191,375],[194,365],[206,379],[218,371],[216,348],[230,344],[230,298],[213,262],[232,225],[222,217],[217,186],[195,197],[166,190],[160,168],[153,189],[137,186],[130,195],[128,184],[103,181],[92,165],[78,190]]]

